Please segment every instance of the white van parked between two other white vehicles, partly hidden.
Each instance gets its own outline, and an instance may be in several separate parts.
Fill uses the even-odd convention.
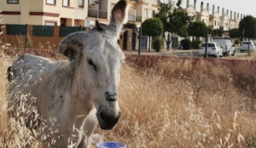
[[[222,52],[225,56],[235,55],[236,49],[235,46],[232,45],[230,38],[213,38],[212,42],[219,44],[219,46],[223,49]]]

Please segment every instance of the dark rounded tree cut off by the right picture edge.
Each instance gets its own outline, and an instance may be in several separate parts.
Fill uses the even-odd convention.
[[[239,23],[239,32],[248,40],[256,38],[256,19],[251,15],[245,16]]]

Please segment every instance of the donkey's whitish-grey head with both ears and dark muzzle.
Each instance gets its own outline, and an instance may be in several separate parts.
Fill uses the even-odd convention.
[[[96,117],[102,129],[112,129],[121,116],[118,104],[120,65],[125,55],[117,39],[123,26],[127,2],[120,0],[108,26],[75,32],[60,43],[60,51],[79,69],[79,89],[84,98],[96,106]],[[83,99],[84,99],[83,98]]]

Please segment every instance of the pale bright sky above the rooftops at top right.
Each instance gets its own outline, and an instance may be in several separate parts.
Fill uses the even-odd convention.
[[[167,2],[168,0],[161,0],[162,2]],[[177,2],[177,0],[172,0]],[[245,15],[253,15],[253,17],[256,17],[256,0],[196,0],[196,11],[200,11],[201,9],[201,2],[203,2],[203,9],[207,9],[207,3],[209,3],[210,11],[209,13],[212,14],[212,5],[215,5],[215,12],[217,11],[217,8],[219,6],[219,13],[222,15],[222,9],[224,8],[224,12],[229,9],[229,16],[230,11],[233,11],[233,17],[234,12]],[[194,6],[194,0],[189,0],[189,5]],[[187,6],[187,0],[183,0],[182,8],[185,9]],[[239,17],[240,17],[239,16]]]

